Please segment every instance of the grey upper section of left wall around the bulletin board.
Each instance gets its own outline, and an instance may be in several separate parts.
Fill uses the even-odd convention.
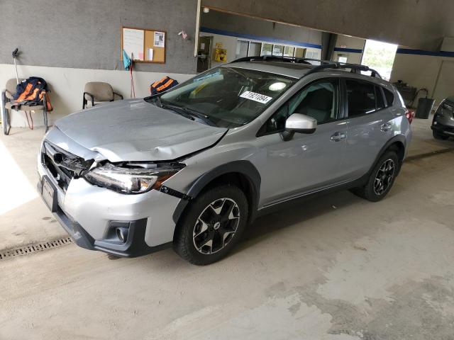
[[[21,64],[123,69],[121,26],[132,26],[167,31],[166,63],[138,70],[194,73],[195,25],[196,0],[0,0],[0,64],[18,47]]]

